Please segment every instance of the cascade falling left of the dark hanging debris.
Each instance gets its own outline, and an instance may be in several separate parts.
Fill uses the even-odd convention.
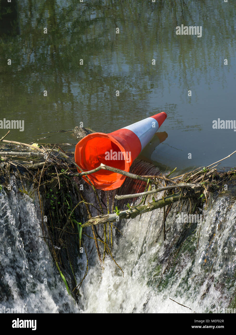
[[[0,191],[0,309],[18,313],[76,313],[75,300],[53,265],[42,238],[39,202]]]

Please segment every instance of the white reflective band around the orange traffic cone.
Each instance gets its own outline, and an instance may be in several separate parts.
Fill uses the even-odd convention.
[[[137,135],[143,149],[151,140],[152,136],[157,132],[158,128],[158,122],[154,118],[150,117],[133,123],[132,125],[124,127],[122,129],[129,129],[135,135]]]

